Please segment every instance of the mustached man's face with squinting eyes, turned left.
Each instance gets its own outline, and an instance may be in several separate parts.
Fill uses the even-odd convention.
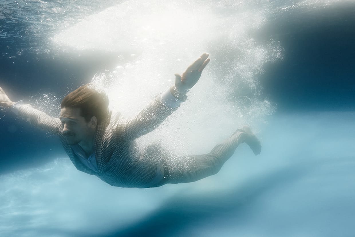
[[[93,139],[95,132],[91,121],[86,122],[80,115],[80,108],[64,107],[60,110],[63,135],[68,145],[76,145],[81,141]]]

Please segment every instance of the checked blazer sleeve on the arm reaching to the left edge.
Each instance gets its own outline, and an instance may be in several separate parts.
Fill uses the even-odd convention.
[[[24,104],[18,110],[18,117],[23,118],[34,126],[44,129],[52,134],[60,134],[61,122],[59,118],[50,117],[48,114]]]

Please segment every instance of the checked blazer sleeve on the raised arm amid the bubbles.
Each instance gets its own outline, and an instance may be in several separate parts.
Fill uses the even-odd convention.
[[[158,95],[135,117],[119,119],[116,133],[125,141],[134,140],[157,128],[179,106],[169,106]]]

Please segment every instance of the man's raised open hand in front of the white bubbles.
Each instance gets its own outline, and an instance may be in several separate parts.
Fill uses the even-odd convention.
[[[179,94],[185,95],[197,83],[203,69],[209,63],[208,56],[207,53],[202,54],[181,75],[175,74],[175,88]]]

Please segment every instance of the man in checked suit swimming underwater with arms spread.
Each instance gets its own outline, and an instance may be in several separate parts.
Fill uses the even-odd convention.
[[[103,92],[84,85],[61,102],[59,118],[52,118],[22,101],[12,102],[0,87],[0,105],[59,136],[75,167],[118,187],[149,188],[166,183],[187,183],[216,174],[224,162],[245,142],[255,155],[260,141],[249,127],[237,129],[230,138],[205,155],[175,156],[158,144],[141,152],[135,139],[157,128],[186,99],[186,93],[200,79],[210,59],[204,53],[181,75],[175,85],[158,95],[133,118],[122,118],[108,109]]]

